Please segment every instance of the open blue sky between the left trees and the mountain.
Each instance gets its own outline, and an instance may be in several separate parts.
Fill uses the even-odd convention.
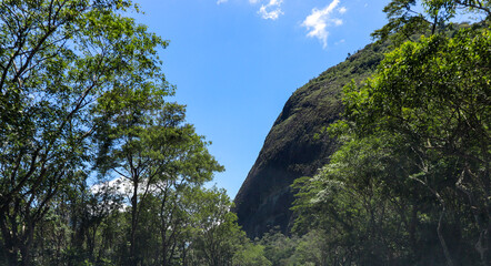
[[[371,42],[388,1],[136,0],[174,101],[226,166],[213,184],[233,198],[288,98]]]

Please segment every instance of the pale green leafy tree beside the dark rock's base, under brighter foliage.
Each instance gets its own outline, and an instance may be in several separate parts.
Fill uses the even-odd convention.
[[[299,192],[293,229],[307,238],[298,245],[297,256],[327,265],[414,265],[414,255],[424,249],[411,242],[418,241],[410,229],[415,218],[408,211],[417,209],[419,194],[404,180],[410,161],[397,151],[398,140],[388,135],[360,140],[347,132],[341,140],[343,145],[328,165],[293,184]],[[311,246],[311,237],[324,241]]]

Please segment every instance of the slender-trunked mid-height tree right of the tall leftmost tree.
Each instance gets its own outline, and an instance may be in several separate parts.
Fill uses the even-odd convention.
[[[164,101],[172,93],[167,86],[141,83],[138,76],[128,81],[99,99],[100,126],[94,136],[99,143],[97,168],[130,184],[129,259],[137,265],[142,259],[137,256],[140,203],[160,194],[160,217],[168,223],[167,215],[173,215],[168,212],[178,205],[172,193],[210,181],[222,166],[208,153],[203,137],[184,123],[184,108]],[[168,239],[163,236],[162,241],[167,257]]]

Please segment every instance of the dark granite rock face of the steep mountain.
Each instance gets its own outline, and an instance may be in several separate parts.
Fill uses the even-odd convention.
[[[367,45],[287,101],[234,200],[239,224],[249,237],[260,237],[273,228],[289,233],[294,221],[290,185],[298,177],[314,175],[329,162],[338,143],[322,129],[340,117],[342,86],[372,74],[385,49]]]

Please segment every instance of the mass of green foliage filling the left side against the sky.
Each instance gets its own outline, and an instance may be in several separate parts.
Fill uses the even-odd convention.
[[[201,249],[220,259],[247,243],[230,200],[202,187],[223,167],[167,101],[168,42],[129,10],[0,3],[0,264],[181,265],[193,243],[220,239]],[[88,187],[96,174],[129,182]]]

